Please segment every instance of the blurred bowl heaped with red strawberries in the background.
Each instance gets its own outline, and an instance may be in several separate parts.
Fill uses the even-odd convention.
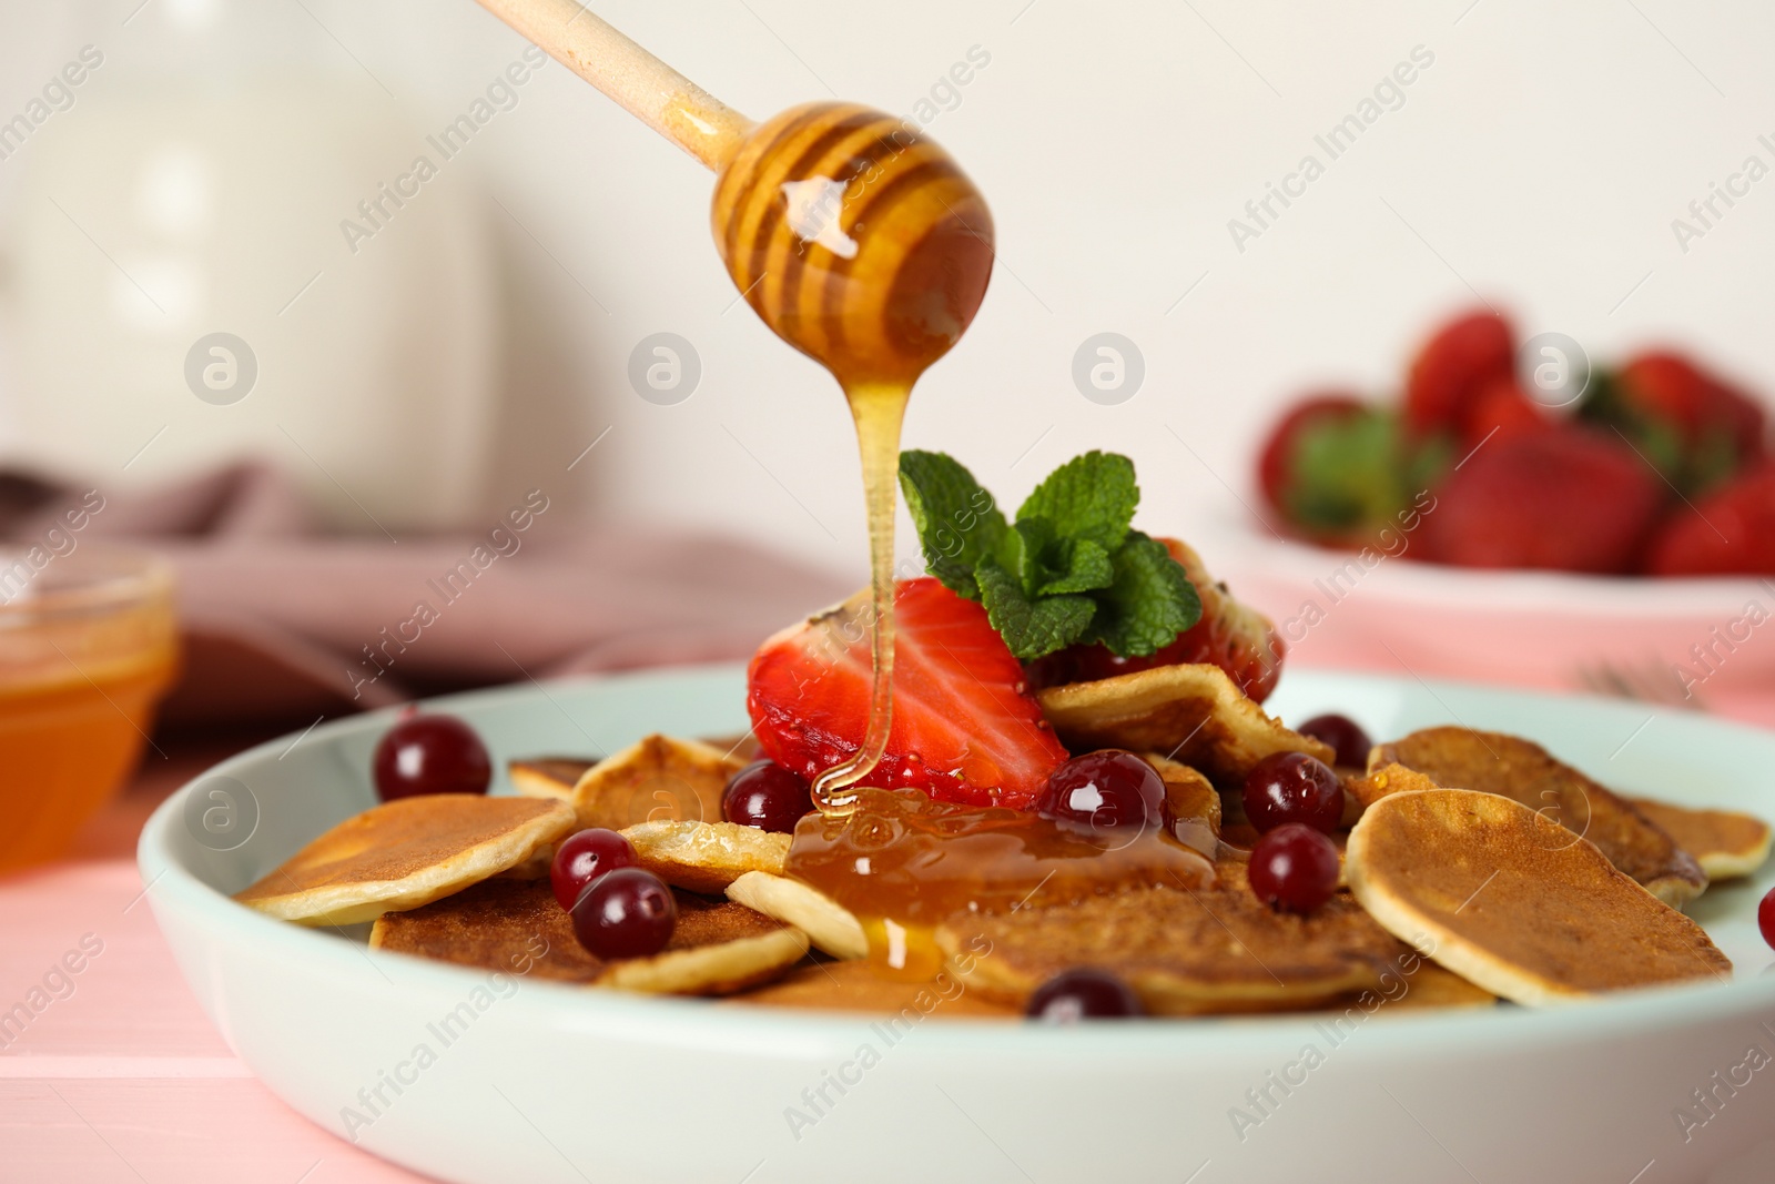
[[[1764,407],[1688,353],[1592,366],[1471,311],[1397,399],[1294,403],[1257,483],[1228,575],[1308,662],[1686,706],[1775,687]]]

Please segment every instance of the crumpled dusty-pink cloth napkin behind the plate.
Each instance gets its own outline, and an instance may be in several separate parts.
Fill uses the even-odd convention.
[[[0,474],[0,540],[41,540],[83,495]],[[256,463],[106,493],[73,538],[172,559],[186,651],[170,722],[307,722],[447,689],[744,659],[854,591],[735,540],[573,518],[540,492],[481,534],[327,536]]]

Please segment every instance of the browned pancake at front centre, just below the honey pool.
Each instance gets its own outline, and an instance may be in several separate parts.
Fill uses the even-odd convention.
[[[1093,966],[1127,982],[1156,1015],[1312,1006],[1377,989],[1409,953],[1347,893],[1312,916],[1274,912],[1242,864],[1219,864],[1202,891],[1150,888],[1076,905],[955,918],[937,930],[962,982],[1021,1006],[1054,975]],[[990,943],[990,946],[985,946]],[[987,951],[978,953],[985,946]]]

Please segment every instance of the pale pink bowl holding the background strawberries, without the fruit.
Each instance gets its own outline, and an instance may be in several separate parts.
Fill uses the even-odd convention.
[[[1250,518],[1207,524],[1216,577],[1312,666],[1775,706],[1775,582],[1495,572],[1329,550]]]

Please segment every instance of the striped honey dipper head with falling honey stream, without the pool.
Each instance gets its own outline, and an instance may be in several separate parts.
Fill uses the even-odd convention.
[[[873,687],[863,747],[813,785],[829,817],[870,774],[893,722],[893,515],[912,383],[950,351],[992,275],[992,215],[948,153],[854,103],[758,126],[715,183],[728,273],[765,325],[832,373],[857,424],[870,524]]]

